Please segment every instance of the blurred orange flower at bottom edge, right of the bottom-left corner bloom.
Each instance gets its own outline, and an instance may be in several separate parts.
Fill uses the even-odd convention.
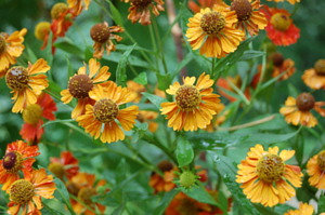
[[[95,183],[94,175],[88,173],[78,173],[72,178],[70,183],[75,186],[75,192],[78,199],[82,202],[80,203],[74,199],[70,199],[73,209],[77,214],[95,215],[95,213],[88,210],[88,207],[86,207],[83,204],[88,205],[93,211],[95,211],[95,207],[98,207],[101,213],[105,212],[106,207],[104,205],[95,203],[91,200],[92,197],[99,193],[99,188],[106,185],[105,180],[101,179]]]

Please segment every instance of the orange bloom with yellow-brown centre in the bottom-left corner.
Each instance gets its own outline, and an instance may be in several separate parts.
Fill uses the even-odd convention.
[[[14,182],[9,188],[10,202],[8,213],[12,215],[41,214],[41,197],[53,199],[55,184],[46,169],[35,170],[24,175],[24,179]]]

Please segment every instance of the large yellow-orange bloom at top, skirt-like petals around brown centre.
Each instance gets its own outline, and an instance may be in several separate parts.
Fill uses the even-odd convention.
[[[214,5],[213,9],[202,9],[188,18],[186,38],[193,50],[207,57],[224,57],[234,52],[244,40],[244,32],[234,28],[237,22],[236,12]]]

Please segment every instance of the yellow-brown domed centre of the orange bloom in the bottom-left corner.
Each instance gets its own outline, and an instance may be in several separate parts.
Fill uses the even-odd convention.
[[[18,204],[26,204],[31,201],[34,196],[34,186],[30,182],[18,179],[9,188],[10,199]]]

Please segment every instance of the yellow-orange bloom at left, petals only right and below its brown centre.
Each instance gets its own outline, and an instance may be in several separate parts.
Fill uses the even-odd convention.
[[[49,81],[43,75],[50,69],[44,59],[38,59],[34,65],[28,62],[28,67],[15,66],[8,69],[5,82],[13,93],[13,112],[22,112],[27,106],[37,102],[37,96],[48,88]]]

